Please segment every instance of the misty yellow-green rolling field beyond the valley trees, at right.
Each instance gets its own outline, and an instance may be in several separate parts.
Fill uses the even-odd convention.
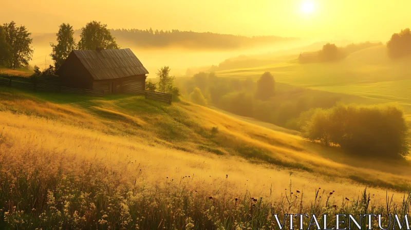
[[[409,59],[390,60],[385,46],[350,54],[337,63],[300,64],[296,60],[255,68],[217,71],[218,76],[257,80],[265,71],[279,83],[357,95],[362,104],[398,103],[411,114]]]

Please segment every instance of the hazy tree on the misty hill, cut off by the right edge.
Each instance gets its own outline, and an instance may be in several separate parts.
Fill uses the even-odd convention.
[[[411,55],[411,30],[406,28],[394,33],[387,42],[388,55],[391,58]]]

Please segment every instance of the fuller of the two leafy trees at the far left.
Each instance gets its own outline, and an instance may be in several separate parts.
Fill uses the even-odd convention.
[[[25,26],[16,27],[15,22],[11,21],[3,25],[5,39],[10,47],[10,55],[7,64],[10,68],[18,68],[28,65],[34,50],[30,46],[33,40],[31,33]]]

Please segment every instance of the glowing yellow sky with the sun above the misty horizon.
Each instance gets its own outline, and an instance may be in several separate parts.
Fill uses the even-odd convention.
[[[109,28],[386,41],[411,27],[410,8],[410,0],[2,0],[0,23],[57,32],[63,22],[78,29],[97,20]]]

